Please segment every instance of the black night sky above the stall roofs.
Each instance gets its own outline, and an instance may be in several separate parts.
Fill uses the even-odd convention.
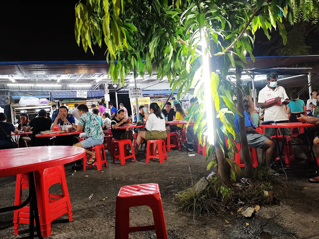
[[[0,61],[105,60],[104,41],[102,48],[93,46],[94,55],[75,41],[78,0],[14,2],[0,3]],[[262,48],[255,55],[262,55]]]

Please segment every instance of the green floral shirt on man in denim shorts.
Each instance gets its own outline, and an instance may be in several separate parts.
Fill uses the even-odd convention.
[[[84,132],[88,137],[95,140],[104,139],[101,124],[93,114],[89,112],[83,113],[78,124],[84,128]]]

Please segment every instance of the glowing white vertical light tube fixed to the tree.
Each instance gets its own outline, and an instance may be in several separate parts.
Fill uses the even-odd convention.
[[[206,117],[207,117],[207,138],[209,144],[213,145],[215,143],[215,112],[213,110],[213,99],[211,97],[211,72],[209,67],[210,56],[207,52],[207,42],[206,42],[206,31],[201,29],[201,43],[202,43],[202,55],[203,55],[203,72],[202,79],[204,80],[204,97],[205,97],[205,108],[206,108]]]

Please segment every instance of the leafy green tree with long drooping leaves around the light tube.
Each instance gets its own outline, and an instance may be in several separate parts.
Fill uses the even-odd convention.
[[[178,87],[178,97],[194,88],[198,104],[190,107],[189,119],[197,119],[194,132],[201,145],[206,143],[202,136],[207,122],[214,120],[205,114],[208,101],[204,94],[211,92],[212,110],[218,119],[215,141],[206,147],[206,160],[212,160],[207,168],[218,165],[219,176],[229,184],[238,166],[231,159],[235,148],[232,139],[240,139],[234,114],[238,113],[244,123],[242,100],[239,109],[233,102],[234,95],[242,95],[242,82],[239,74],[237,86],[228,79],[229,68],[244,69],[246,53],[254,61],[252,50],[258,29],[268,39],[269,32],[278,29],[285,44],[283,20],[293,24],[299,4],[294,0],[86,0],[75,7],[75,38],[78,45],[82,39],[84,50],[89,47],[92,53],[92,45],[105,47],[104,41],[109,76],[115,83],[124,84],[131,70],[142,77],[145,71],[152,74],[155,65],[157,78],[166,76],[172,91]],[[210,79],[203,77],[203,34],[208,43]],[[204,87],[205,81],[210,81],[210,89]],[[250,177],[252,166],[245,138],[246,132],[241,132],[242,148],[247,149],[243,150],[244,174]]]

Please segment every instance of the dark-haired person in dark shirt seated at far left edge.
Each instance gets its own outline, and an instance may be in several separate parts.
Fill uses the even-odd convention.
[[[0,113],[0,149],[17,148],[17,144],[11,140],[11,132],[18,134],[19,131],[11,123],[7,123],[7,116]]]

